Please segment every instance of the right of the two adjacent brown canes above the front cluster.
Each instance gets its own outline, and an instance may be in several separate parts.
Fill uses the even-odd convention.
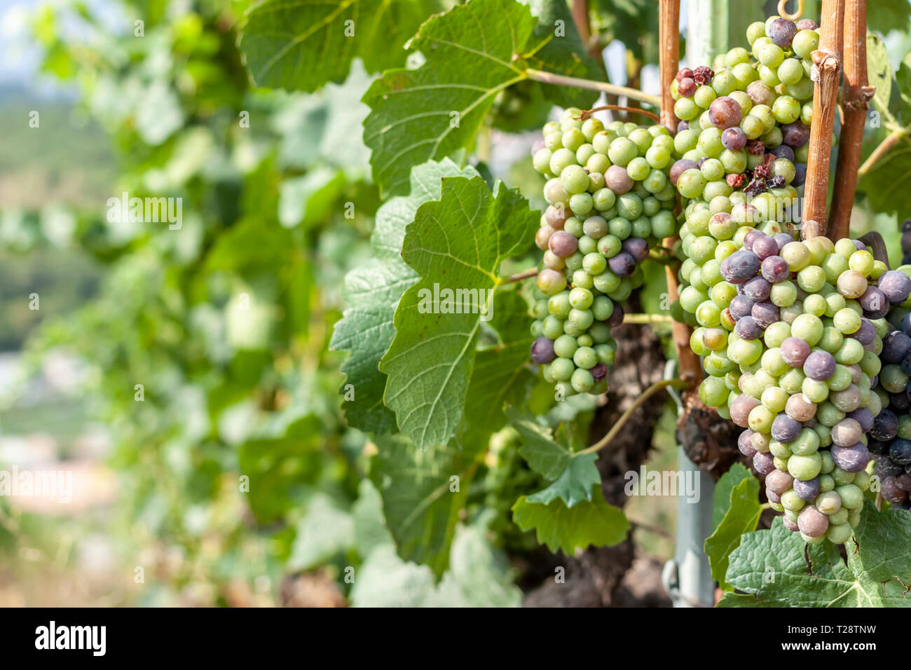
[[[866,75],[866,0],[846,0],[844,9],[844,119],[829,215],[829,235],[833,240],[850,234],[866,112],[874,93]]]

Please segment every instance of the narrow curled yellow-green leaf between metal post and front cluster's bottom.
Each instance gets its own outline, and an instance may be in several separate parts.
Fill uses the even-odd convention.
[[[724,477],[731,473],[732,470],[729,470],[724,473]],[[740,474],[735,473],[732,479],[738,477],[741,477]],[[728,509],[711,536],[706,538],[705,553],[709,557],[711,576],[718,581],[723,590],[730,591],[732,589],[724,582],[724,575],[728,572],[731,552],[740,546],[743,533],[756,530],[756,524],[763,513],[763,508],[759,504],[759,479],[745,473],[732,487],[727,483],[722,485],[720,480],[719,489],[715,490],[713,507],[717,508],[723,503],[724,497],[728,499]]]

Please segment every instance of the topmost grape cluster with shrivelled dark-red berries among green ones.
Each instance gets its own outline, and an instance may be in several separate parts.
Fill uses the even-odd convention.
[[[681,119],[674,138],[679,160],[670,179],[681,195],[720,209],[734,191],[764,197],[804,183],[816,27],[809,19],[794,24],[773,16],[747,30],[752,52],[738,46],[717,57],[714,69],[677,74],[670,92]]]

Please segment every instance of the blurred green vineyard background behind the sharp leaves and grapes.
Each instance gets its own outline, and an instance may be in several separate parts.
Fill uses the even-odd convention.
[[[0,84],[0,468],[70,469],[76,488],[68,505],[0,497],[0,604],[520,603],[541,550],[510,521],[536,482],[509,431],[444,579],[395,555],[329,350],[380,204],[370,77],[355,60],[314,94],[252,89],[249,5],[0,2],[19,75]],[[596,5],[597,29],[641,35],[609,46],[611,80],[654,92],[657,3]],[[479,169],[539,202],[524,133],[550,108],[516,104],[499,101]],[[124,191],[180,198],[179,231],[111,220]],[[647,468],[674,467],[672,417]],[[674,506],[627,510],[658,560]]]

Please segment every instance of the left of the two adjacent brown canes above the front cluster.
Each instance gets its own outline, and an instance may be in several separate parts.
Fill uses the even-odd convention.
[[[826,231],[832,129],[842,71],[843,21],[844,0],[823,0],[819,50],[813,52],[813,124],[810,126],[810,157],[804,190],[804,225],[801,231],[804,240],[824,235]]]

